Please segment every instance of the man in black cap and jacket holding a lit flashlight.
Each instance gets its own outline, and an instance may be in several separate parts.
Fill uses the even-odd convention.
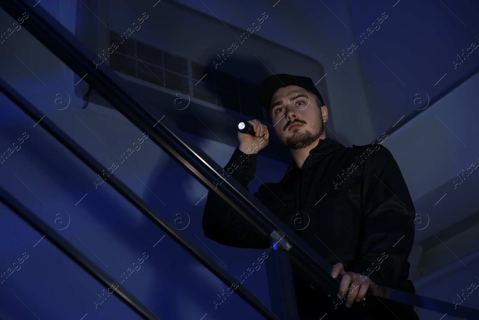
[[[328,109],[310,78],[270,76],[261,83],[258,100],[294,162],[281,181],[263,183],[254,196],[333,265],[331,277],[342,274],[339,297],[331,301],[292,263],[300,319],[325,313],[327,319],[419,319],[411,306],[364,299],[376,284],[415,292],[407,261],[414,205],[391,153],[377,143],[346,148],[327,138]],[[238,132],[239,146],[225,167],[245,188],[269,139],[264,124],[248,122],[255,137]],[[227,246],[270,246],[215,193],[208,193],[203,230]]]

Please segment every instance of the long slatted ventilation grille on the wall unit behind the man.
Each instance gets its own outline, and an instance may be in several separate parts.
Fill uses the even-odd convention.
[[[256,100],[256,84],[136,39],[125,38],[126,35],[110,31],[109,47],[113,43],[118,45],[109,56],[113,70],[265,120],[264,108]]]

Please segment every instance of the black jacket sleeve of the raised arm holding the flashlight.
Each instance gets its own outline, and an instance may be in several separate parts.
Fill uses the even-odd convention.
[[[257,154],[245,154],[237,147],[224,168],[224,176],[227,179],[235,178],[248,190],[247,185],[254,178],[257,158]],[[262,201],[259,192],[255,192],[254,196]],[[205,237],[225,246],[254,249],[266,249],[270,246],[266,238],[251,230],[238,213],[214,191],[208,192],[202,225]]]

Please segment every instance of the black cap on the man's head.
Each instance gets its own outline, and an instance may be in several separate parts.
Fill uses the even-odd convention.
[[[319,94],[318,89],[314,85],[311,78],[302,77],[297,75],[291,75],[287,73],[278,73],[266,78],[259,86],[257,98],[260,104],[269,109],[271,97],[274,95],[276,90],[279,88],[285,87],[287,85],[297,85],[298,87],[304,88],[315,94],[319,101],[321,102],[321,106],[324,106],[323,98],[321,94]]]

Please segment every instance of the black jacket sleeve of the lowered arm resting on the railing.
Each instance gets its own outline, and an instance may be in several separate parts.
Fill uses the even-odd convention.
[[[409,276],[414,242],[414,204],[399,166],[380,145],[364,162],[361,207],[365,233],[354,273],[395,287]]]

